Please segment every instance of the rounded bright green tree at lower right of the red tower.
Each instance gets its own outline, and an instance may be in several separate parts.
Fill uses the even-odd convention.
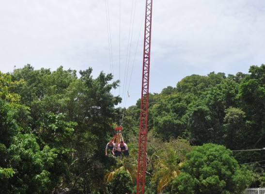
[[[197,146],[187,154],[187,159],[182,173],[173,181],[174,193],[241,194],[250,183],[250,172],[240,167],[232,151],[224,146]]]

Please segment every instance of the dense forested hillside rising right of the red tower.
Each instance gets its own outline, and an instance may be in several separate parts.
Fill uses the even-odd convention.
[[[249,74],[226,77],[212,72],[183,78],[176,88],[155,95],[149,129],[167,141],[180,136],[194,145],[215,143],[232,150],[265,147],[264,66],[251,66]],[[236,158],[241,163],[265,160],[250,155]]]

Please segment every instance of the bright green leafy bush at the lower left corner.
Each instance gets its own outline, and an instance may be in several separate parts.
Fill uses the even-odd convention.
[[[56,158],[55,150],[48,146],[40,150],[33,134],[18,134],[13,141],[7,151],[10,165],[16,172],[10,179],[11,185],[16,183],[16,186],[13,186],[14,191],[28,194],[48,191],[49,168],[53,166]]]

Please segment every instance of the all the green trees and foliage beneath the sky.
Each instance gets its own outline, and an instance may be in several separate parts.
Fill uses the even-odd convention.
[[[93,78],[92,71],[78,78],[62,66],[51,71],[28,64],[0,73],[0,193],[107,193],[108,172],[109,191],[135,190],[140,100],[115,109],[121,97],[111,92],[119,81],[103,72]],[[251,66],[249,74],[187,76],[149,94],[146,192],[236,194],[249,177],[252,185],[264,185],[264,172],[249,167],[249,174],[223,147],[199,146],[186,157],[190,144],[265,147],[264,79],[265,65]],[[130,157],[116,160],[104,149],[122,116]],[[240,163],[265,160],[259,151],[234,157]],[[130,181],[122,188],[114,177]]]

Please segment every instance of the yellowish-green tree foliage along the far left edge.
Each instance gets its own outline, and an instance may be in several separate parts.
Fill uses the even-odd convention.
[[[23,84],[23,81],[11,81],[11,76],[0,72],[0,191],[5,192],[10,178],[16,173],[8,163],[7,149],[12,145],[12,138],[19,132],[19,115],[27,114],[27,107],[17,104],[20,96],[10,93],[10,86]]]

